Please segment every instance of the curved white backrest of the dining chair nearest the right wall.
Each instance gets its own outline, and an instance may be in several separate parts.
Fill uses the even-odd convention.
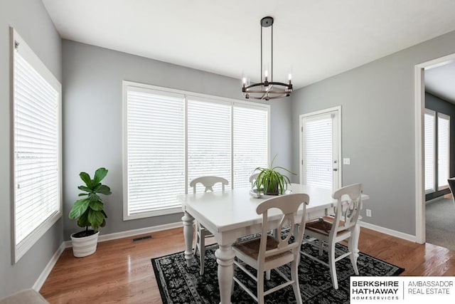
[[[329,237],[337,236],[338,232],[353,229],[358,221],[362,202],[362,184],[351,184],[333,192],[337,200],[335,219]]]

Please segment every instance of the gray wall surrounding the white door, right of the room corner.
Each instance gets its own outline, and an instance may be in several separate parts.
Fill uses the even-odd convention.
[[[415,235],[414,65],[451,53],[455,31],[296,91],[294,170],[300,168],[299,115],[341,105],[342,157],[350,157],[343,185],[362,182],[370,194],[363,221]]]

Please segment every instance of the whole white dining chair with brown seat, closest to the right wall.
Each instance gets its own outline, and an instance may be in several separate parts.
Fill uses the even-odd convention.
[[[342,187],[334,192],[332,197],[337,200],[335,215],[308,221],[305,231],[306,238],[304,239],[305,243],[319,248],[319,256],[322,256],[323,251],[327,251],[328,263],[304,251],[301,253],[314,261],[328,266],[330,268],[333,288],[338,289],[338,280],[336,278],[337,261],[349,256],[354,273],[358,275],[357,263],[354,257],[353,230],[360,213],[362,184],[352,184]],[[348,252],[335,257],[335,244],[344,240],[348,241]]]

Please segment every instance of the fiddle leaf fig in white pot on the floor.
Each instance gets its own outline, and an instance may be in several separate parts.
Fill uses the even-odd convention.
[[[105,213],[105,204],[100,194],[109,195],[111,189],[105,184],[101,184],[102,179],[107,175],[107,169],[99,168],[96,170],[93,179],[86,172],[80,172],[79,176],[85,185],[77,187],[84,196],[73,204],[70,211],[70,219],[77,219],[77,226],[84,230],[71,234],[73,242],[73,254],[76,257],[90,256],[97,249],[98,234],[100,227],[106,225],[107,215]]]

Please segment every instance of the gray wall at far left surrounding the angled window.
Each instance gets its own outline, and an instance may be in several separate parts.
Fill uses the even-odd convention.
[[[61,81],[61,40],[41,1],[0,1],[0,298],[31,288],[63,241],[62,219],[11,265],[10,35],[13,26]]]

